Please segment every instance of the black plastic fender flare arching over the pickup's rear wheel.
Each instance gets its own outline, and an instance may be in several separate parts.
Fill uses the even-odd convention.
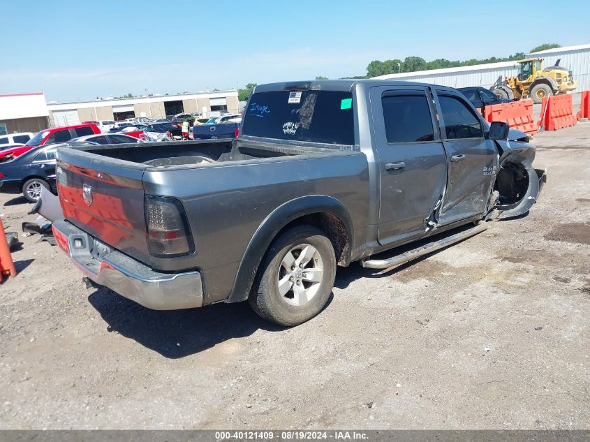
[[[226,302],[242,302],[248,299],[263,256],[276,235],[288,223],[305,215],[320,213],[332,214],[344,224],[352,248],[353,222],[346,207],[339,200],[331,196],[310,195],[285,202],[274,209],[252,235],[239,263],[233,288]],[[350,258],[346,259],[348,262]]]

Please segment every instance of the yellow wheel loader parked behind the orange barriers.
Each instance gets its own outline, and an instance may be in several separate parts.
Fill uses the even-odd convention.
[[[566,94],[577,88],[572,72],[559,66],[545,68],[543,59],[524,59],[518,62],[519,71],[516,77],[502,77],[490,88],[498,98],[532,98],[533,103],[541,103],[544,96]]]

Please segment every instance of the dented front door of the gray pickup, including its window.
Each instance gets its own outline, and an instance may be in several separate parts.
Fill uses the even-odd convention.
[[[499,155],[485,139],[481,116],[455,91],[436,90],[443,145],[448,156],[448,186],[440,223],[483,214],[487,207]]]

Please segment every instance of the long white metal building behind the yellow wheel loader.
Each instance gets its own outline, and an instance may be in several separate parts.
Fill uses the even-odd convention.
[[[544,58],[545,66],[553,66],[557,59],[561,59],[560,66],[573,71],[574,80],[579,83],[576,92],[590,89],[590,45],[558,47],[526,54],[526,57]],[[514,77],[517,73],[516,61],[502,61],[500,63],[460,66],[458,68],[380,75],[374,78],[433,83],[448,87],[480,86],[489,89],[500,75],[506,78]]]

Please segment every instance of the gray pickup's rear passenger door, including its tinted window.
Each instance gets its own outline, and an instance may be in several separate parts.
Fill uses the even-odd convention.
[[[445,149],[427,87],[370,90],[380,200],[381,244],[422,235],[436,219],[447,182]]]

